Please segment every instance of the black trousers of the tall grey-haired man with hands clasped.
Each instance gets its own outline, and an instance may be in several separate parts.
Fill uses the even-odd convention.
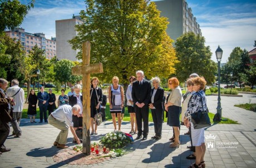
[[[147,136],[149,134],[149,106],[144,105],[142,108],[138,106],[134,106],[135,115],[136,115],[136,122],[137,122],[137,129],[138,129],[138,136]],[[142,120],[143,120],[143,131],[142,131]]]

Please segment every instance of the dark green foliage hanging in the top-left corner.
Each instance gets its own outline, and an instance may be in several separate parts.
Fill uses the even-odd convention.
[[[0,0],[0,34],[5,29],[18,27],[26,17],[35,0],[28,4],[21,4],[18,0]]]

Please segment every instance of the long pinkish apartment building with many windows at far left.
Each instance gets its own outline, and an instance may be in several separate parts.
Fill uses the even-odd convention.
[[[43,33],[27,33],[24,28],[15,28],[12,31],[6,31],[9,37],[21,41],[21,45],[28,54],[34,46],[45,50],[47,59],[56,56],[56,40],[55,38],[46,39]]]

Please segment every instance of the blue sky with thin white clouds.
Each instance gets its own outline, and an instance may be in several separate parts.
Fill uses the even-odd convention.
[[[27,4],[31,0],[21,0]],[[157,1],[157,0],[156,0]],[[176,0],[180,1],[180,0]],[[186,0],[196,21],[200,24],[205,45],[213,53],[211,60],[216,62],[215,51],[223,50],[221,63],[227,62],[235,47],[253,50],[256,40],[256,1],[255,0]],[[46,38],[56,37],[55,21],[72,18],[85,9],[83,0],[36,0],[21,27],[29,33],[45,33]]]

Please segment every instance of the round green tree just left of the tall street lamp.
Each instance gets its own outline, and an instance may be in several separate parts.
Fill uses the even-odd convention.
[[[175,75],[179,81],[185,81],[191,73],[204,76],[207,83],[215,81],[217,66],[211,60],[210,47],[204,43],[205,38],[193,32],[185,33],[176,40],[176,56],[179,62],[175,65]]]

